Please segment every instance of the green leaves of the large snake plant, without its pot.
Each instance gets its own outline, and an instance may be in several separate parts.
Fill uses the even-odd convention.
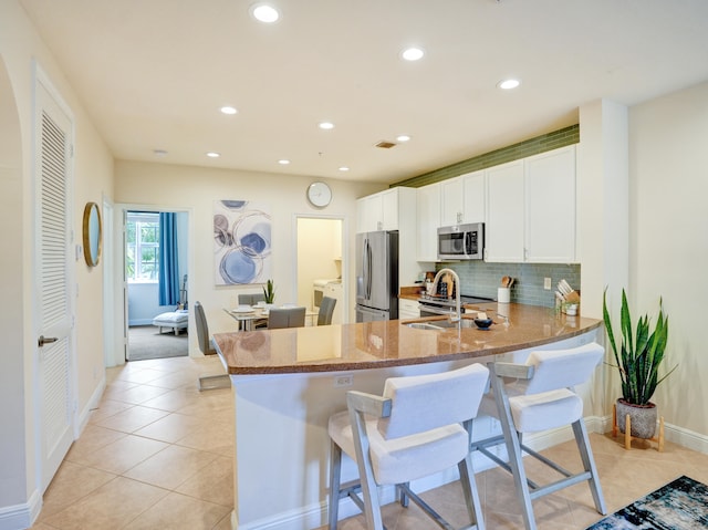
[[[659,315],[654,330],[650,330],[649,318],[645,314],[639,318],[635,332],[632,328],[627,295],[624,289],[622,290],[620,313],[622,344],[620,350],[617,350],[607,310],[606,289],[602,298],[602,313],[610,345],[617,363],[614,366],[620,371],[622,378],[622,397],[631,405],[648,405],[656,386],[676,370],[674,366],[663,377],[658,375],[668,339],[668,316],[664,315],[662,300],[659,299]]]

